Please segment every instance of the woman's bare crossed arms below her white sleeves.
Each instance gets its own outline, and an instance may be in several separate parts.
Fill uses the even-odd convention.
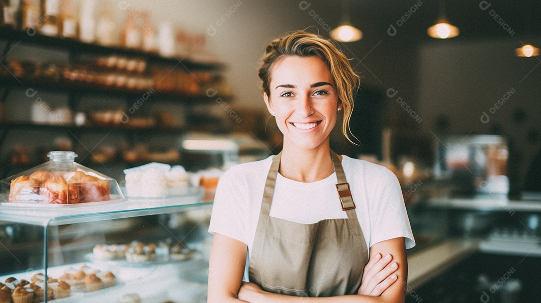
[[[209,303],[405,301],[406,290],[403,285],[407,281],[407,260],[404,238],[394,238],[372,245],[370,261],[362,274],[362,284],[358,294],[327,298],[291,297],[269,293],[256,284],[242,282],[247,249],[246,244],[241,241],[218,233],[214,234],[209,264]]]

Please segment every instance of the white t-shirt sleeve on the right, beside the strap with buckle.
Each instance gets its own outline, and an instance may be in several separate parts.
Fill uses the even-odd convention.
[[[404,197],[397,177],[388,169],[381,170],[377,177],[377,186],[371,193],[371,239],[375,243],[404,237],[406,249],[415,246],[413,233],[408,219]]]

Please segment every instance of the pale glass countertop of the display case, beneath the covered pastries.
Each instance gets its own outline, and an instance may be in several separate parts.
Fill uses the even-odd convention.
[[[181,212],[209,206],[202,202],[202,192],[195,195],[160,199],[126,199],[75,205],[38,205],[0,203],[0,221],[39,226],[95,222]]]

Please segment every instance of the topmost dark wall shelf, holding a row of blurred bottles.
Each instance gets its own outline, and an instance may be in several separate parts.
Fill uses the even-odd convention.
[[[30,35],[34,34],[34,35]],[[104,45],[81,42],[76,39],[50,37],[41,35],[35,32],[20,31],[11,28],[0,27],[0,40],[21,41],[30,44],[39,44],[43,47],[68,49],[72,54],[100,54],[100,55],[117,55],[130,57],[148,58],[151,63],[157,64],[182,64],[187,69],[197,70],[222,70],[226,68],[223,63],[202,63],[189,60],[189,58],[163,57],[152,52],[145,52],[137,49],[127,49],[122,47],[107,47]]]

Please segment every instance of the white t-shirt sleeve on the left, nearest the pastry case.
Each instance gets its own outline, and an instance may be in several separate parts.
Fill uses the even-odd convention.
[[[220,177],[210,215],[210,233],[247,243],[247,192],[234,168]]]

